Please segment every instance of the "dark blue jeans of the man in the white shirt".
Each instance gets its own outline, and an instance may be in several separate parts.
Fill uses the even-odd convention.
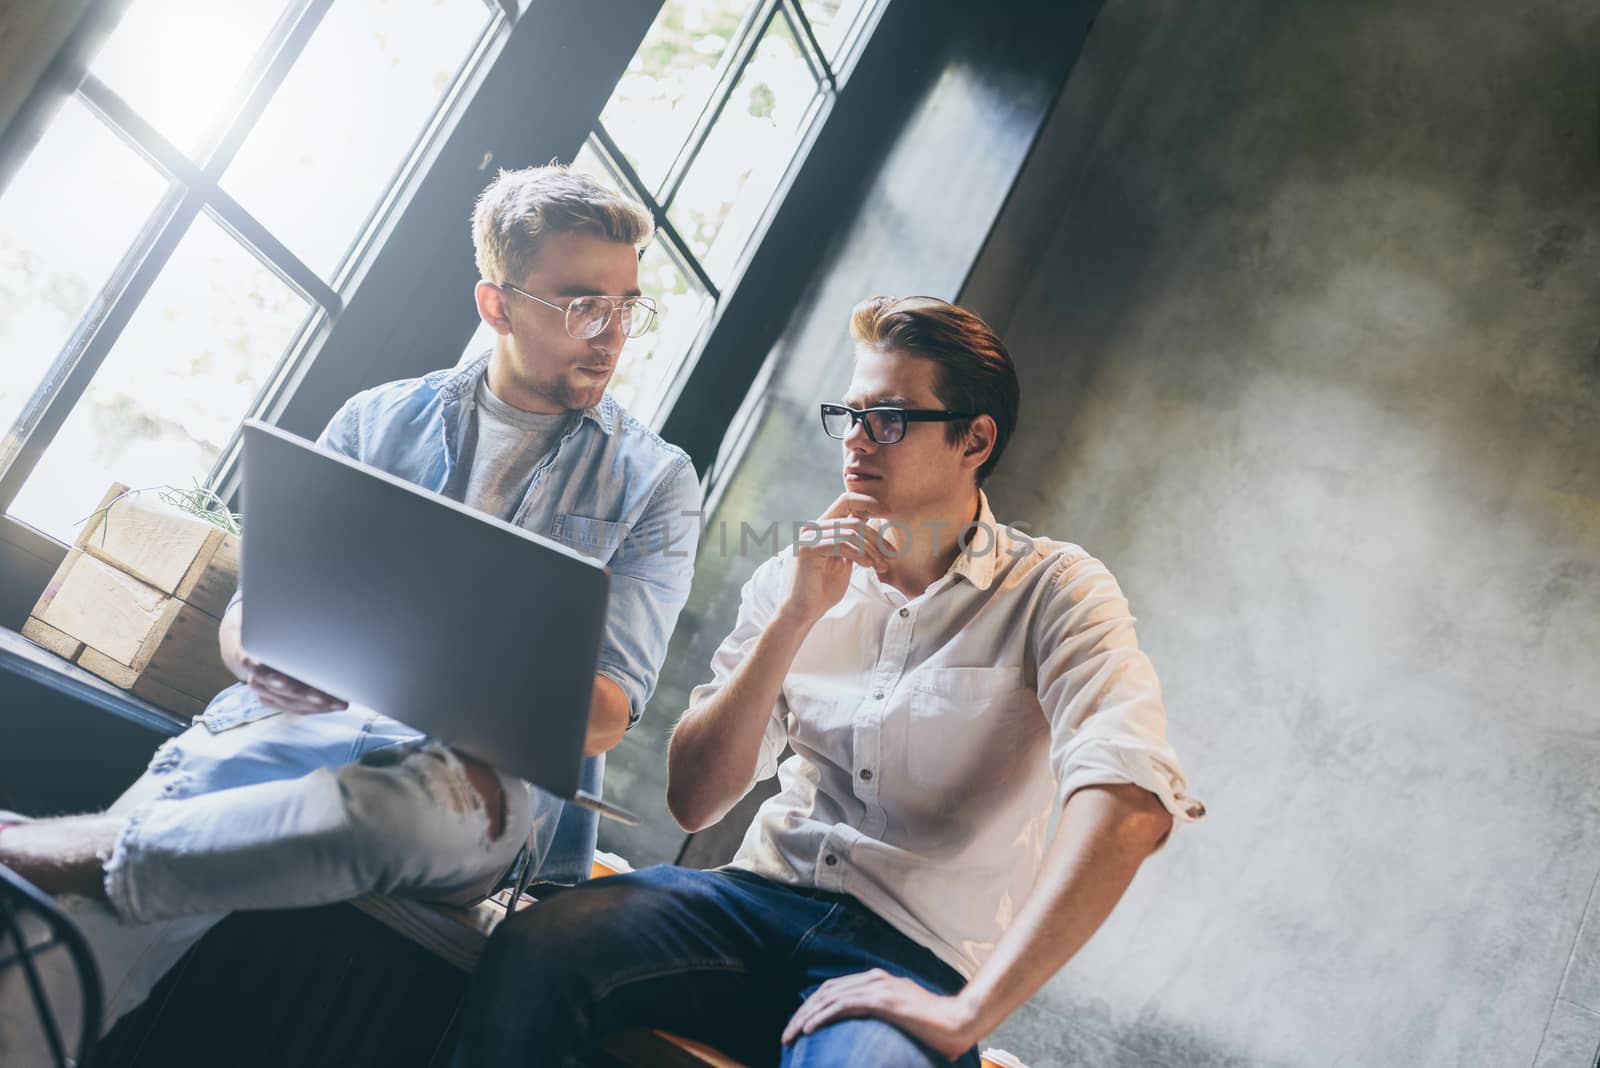
[[[472,977],[456,1065],[584,1065],[595,1041],[637,1026],[752,1066],[950,1063],[872,1018],[779,1044],[818,986],[874,967],[946,994],[965,983],[843,894],[731,870],[658,867],[595,879],[499,926]],[[978,1050],[955,1063],[978,1068]]]

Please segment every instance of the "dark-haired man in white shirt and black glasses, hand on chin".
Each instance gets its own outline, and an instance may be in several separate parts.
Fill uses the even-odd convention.
[[[752,1065],[976,1065],[1203,815],[1115,579],[998,528],[979,489],[1016,424],[1005,345],[928,297],[867,301],[851,331],[822,404],[843,492],[746,584],[667,758],[691,831],[779,793],[718,871],[597,879],[502,924],[459,1065],[584,1063],[634,1026]]]

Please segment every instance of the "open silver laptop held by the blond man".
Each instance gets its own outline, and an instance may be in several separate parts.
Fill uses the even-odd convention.
[[[579,790],[603,566],[254,419],[243,441],[253,657],[635,822]]]

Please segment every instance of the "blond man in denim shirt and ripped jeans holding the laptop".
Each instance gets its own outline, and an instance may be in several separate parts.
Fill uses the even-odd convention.
[[[606,393],[624,342],[654,313],[638,291],[651,230],[640,205],[578,171],[501,173],[472,217],[494,349],[350,398],[320,438],[608,564],[586,739],[595,793],[602,755],[654,687],[699,531],[688,456]],[[240,646],[246,601],[242,590],[221,638],[240,684],[162,745],[110,811],[0,830],[0,863],[93,899],[69,900],[96,945],[109,1022],[232,910],[374,891],[467,902],[525,844],[541,879],[589,873],[592,814],[259,664]],[[0,996],[6,1017],[30,1012],[19,991]]]

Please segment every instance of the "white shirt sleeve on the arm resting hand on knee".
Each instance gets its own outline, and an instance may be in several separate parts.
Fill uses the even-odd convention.
[[[1117,579],[1093,556],[1062,561],[1035,628],[1038,700],[1062,803],[1083,787],[1133,783],[1179,822],[1205,815],[1166,740],[1155,667],[1139,649]]]

